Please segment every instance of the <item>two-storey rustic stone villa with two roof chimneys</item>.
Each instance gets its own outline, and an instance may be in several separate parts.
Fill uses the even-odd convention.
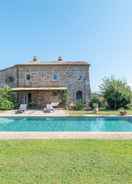
[[[90,101],[89,64],[85,61],[42,63],[36,57],[26,64],[18,64],[0,71],[0,87],[9,86],[18,103],[43,108],[47,103],[59,102],[67,91],[67,104]]]

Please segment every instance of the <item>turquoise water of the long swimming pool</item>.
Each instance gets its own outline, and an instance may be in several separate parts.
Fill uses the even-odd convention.
[[[0,118],[0,131],[132,131],[132,118]]]

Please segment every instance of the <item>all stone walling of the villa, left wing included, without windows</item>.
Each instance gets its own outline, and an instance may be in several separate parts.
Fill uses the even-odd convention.
[[[59,80],[53,80],[54,73],[59,74]],[[30,75],[30,80],[27,80],[27,75]],[[14,81],[7,84],[6,79],[10,76]],[[0,84],[10,87],[67,87],[68,104],[76,103],[77,91],[82,91],[87,106],[90,101],[89,65],[17,65],[0,72]],[[42,104],[50,96],[50,92],[35,94],[34,99]]]

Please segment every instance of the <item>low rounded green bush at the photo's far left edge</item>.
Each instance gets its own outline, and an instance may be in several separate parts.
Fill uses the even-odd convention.
[[[8,99],[0,100],[0,110],[11,110],[14,108],[14,103]]]

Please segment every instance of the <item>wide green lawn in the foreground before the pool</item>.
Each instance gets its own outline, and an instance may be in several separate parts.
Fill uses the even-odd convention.
[[[0,184],[96,183],[132,183],[132,141],[0,141]]]

